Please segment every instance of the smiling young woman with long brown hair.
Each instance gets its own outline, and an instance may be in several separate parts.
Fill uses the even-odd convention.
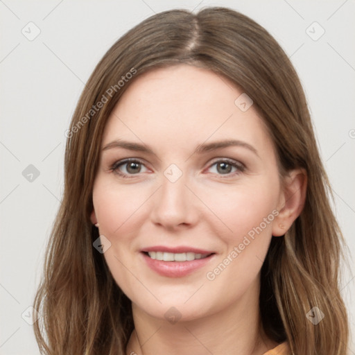
[[[98,63],[67,137],[43,354],[345,354],[343,238],[265,29],[227,8],[146,19]]]

